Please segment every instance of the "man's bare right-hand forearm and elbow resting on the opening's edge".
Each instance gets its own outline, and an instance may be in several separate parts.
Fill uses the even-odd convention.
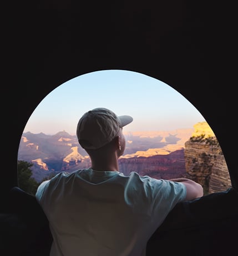
[[[170,179],[173,182],[181,182],[186,187],[186,197],[185,200],[193,200],[195,198],[202,197],[203,188],[199,183],[194,182],[191,179],[178,178],[178,179]]]

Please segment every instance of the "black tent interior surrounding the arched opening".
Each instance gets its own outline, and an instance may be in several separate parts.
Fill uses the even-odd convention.
[[[17,89],[17,122],[9,108],[2,144],[9,145],[13,134],[14,142],[2,150],[7,162],[1,178],[1,255],[49,255],[52,242],[35,198],[18,188],[18,147],[29,117],[60,84],[107,69],[146,74],[188,99],[219,140],[231,178],[232,189],[176,205],[149,240],[147,255],[237,251],[234,10],[229,2],[183,0],[48,0],[14,8],[7,48],[11,85],[2,89],[2,98],[4,105],[12,104]]]

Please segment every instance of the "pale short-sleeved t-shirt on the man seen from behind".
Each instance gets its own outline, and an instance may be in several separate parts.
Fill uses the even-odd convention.
[[[183,183],[92,168],[59,173],[36,193],[53,235],[50,256],[144,256],[185,197]]]

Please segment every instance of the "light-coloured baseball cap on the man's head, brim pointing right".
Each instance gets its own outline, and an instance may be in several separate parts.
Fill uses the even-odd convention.
[[[79,119],[77,137],[85,149],[98,149],[112,141],[121,127],[131,123],[130,116],[117,116],[107,108],[94,108]]]

